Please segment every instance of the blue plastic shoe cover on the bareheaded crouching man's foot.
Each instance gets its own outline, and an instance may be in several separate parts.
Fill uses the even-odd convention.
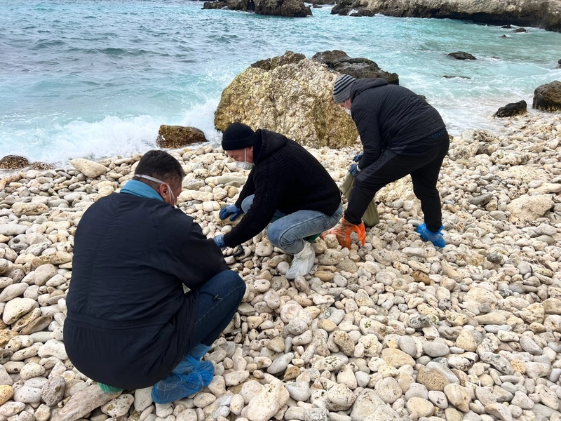
[[[180,363],[176,369],[181,365]],[[151,394],[152,401],[170,403],[200,392],[203,387],[210,385],[214,373],[215,367],[210,361],[199,362],[196,368],[187,374],[173,370],[168,377],[154,385]]]

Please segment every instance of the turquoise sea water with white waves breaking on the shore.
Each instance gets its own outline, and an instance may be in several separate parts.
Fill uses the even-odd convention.
[[[455,20],[204,11],[179,0],[0,0],[0,157],[64,163],[144,152],[160,124],[219,133],[222,90],[252,62],[287,50],[370,58],[426,95],[451,133],[489,128],[507,102],[532,105],[561,80],[561,34]],[[506,34],[506,38],[501,38]],[[467,51],[478,60],[447,57]],[[471,79],[445,79],[442,75]]]

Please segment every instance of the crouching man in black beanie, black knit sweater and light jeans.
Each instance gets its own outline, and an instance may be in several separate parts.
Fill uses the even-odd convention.
[[[342,216],[335,182],[304,147],[280,133],[231,123],[222,136],[222,149],[251,172],[236,203],[219,214],[222,220],[229,215],[235,220],[242,213],[245,217],[228,234],[216,236],[217,245],[238,246],[272,222],[267,228],[271,244],[295,255],[287,278],[307,274],[316,257],[310,241]]]

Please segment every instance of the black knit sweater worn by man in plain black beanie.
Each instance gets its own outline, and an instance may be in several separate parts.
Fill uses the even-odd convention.
[[[333,215],[341,193],[325,168],[304,147],[280,133],[258,130],[253,146],[255,167],[248,176],[236,206],[251,194],[253,204],[241,222],[224,235],[227,246],[237,246],[259,234],[276,210],[318,210]]]

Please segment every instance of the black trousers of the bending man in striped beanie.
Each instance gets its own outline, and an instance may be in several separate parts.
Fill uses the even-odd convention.
[[[436,182],[449,146],[450,139],[445,131],[444,135],[427,145],[426,152],[414,155],[407,155],[407,149],[399,155],[391,151],[382,152],[377,161],[360,171],[355,178],[345,219],[352,224],[360,224],[368,203],[379,189],[410,174],[413,192],[421,201],[426,227],[437,232],[442,225],[442,208]]]

